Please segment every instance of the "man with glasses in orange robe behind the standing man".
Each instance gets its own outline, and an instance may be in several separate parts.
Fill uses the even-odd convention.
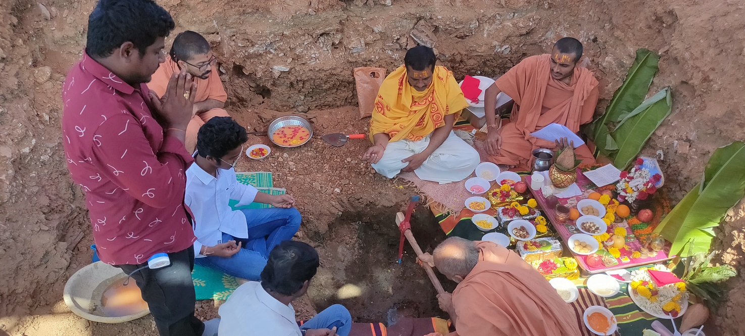
[[[217,58],[212,54],[209,42],[204,36],[186,30],[176,36],[168,57],[160,64],[158,71],[153,74],[153,79],[148,83],[148,88],[155,91],[158,97],[162,97],[168,79],[174,73],[186,68],[186,72],[194,77],[197,90],[190,92],[195,95],[194,109],[186,128],[185,143],[186,150],[190,153],[194,152],[194,147],[197,146],[199,128],[207,120],[212,117],[229,117],[228,112],[223,109],[228,95],[220,81],[220,72],[216,65]]]

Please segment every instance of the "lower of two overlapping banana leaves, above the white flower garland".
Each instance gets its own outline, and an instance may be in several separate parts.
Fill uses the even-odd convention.
[[[618,150],[610,155],[613,166],[626,169],[662,120],[670,115],[671,109],[670,87],[666,87],[627,114],[611,132],[618,146]]]

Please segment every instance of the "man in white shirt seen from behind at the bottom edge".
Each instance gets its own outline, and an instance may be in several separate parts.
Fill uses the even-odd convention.
[[[292,301],[305,295],[318,268],[318,253],[304,242],[282,242],[274,248],[261,282],[246,282],[220,306],[220,336],[347,336],[352,316],[341,305],[321,311],[302,326],[295,322]]]

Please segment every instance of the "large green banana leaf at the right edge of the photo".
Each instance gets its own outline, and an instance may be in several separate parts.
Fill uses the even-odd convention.
[[[697,184],[656,227],[673,243],[680,256],[706,253],[717,227],[729,208],[745,196],[745,142],[736,141],[714,151]],[[683,252],[686,243],[691,246]]]

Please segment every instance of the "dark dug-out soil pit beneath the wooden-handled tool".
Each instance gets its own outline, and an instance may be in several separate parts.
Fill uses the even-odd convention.
[[[346,211],[319,237],[321,265],[308,297],[317,309],[341,303],[358,322],[393,324],[398,317],[434,317],[437,292],[405,242],[402,263],[397,262],[399,230],[396,207]],[[423,251],[431,251],[446,238],[432,213],[419,207],[412,216],[412,233]],[[314,238],[314,237],[311,237]],[[315,240],[315,239],[314,239]],[[454,282],[440,276],[447,290]]]

